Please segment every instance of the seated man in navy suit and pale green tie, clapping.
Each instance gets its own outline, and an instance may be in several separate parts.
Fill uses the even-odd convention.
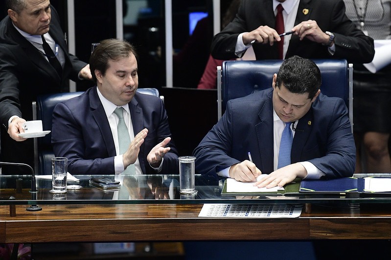
[[[57,104],[53,112],[54,154],[68,158],[68,171],[177,173],[178,152],[162,100],[136,92],[133,46],[122,40],[101,41],[91,55],[90,69],[97,86]],[[126,125],[123,131],[121,121]],[[131,140],[124,148],[123,132]]]

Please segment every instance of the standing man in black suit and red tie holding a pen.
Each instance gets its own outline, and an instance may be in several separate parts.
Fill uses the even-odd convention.
[[[211,54],[219,60],[236,59],[251,45],[256,60],[298,55],[368,63],[375,53],[373,39],[346,17],[343,0],[242,0],[235,19],[213,38]]]

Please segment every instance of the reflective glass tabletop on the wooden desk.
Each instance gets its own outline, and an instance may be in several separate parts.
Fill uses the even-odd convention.
[[[382,174],[359,174],[355,177],[390,177]],[[179,175],[75,175],[79,181],[68,181],[68,192],[53,194],[50,179],[36,180],[37,192],[31,192],[31,176],[0,175],[0,204],[202,204],[202,203],[391,203],[391,194],[355,192],[339,194],[290,193],[265,195],[226,195],[223,178],[196,175],[196,195],[181,195]],[[119,190],[104,192],[92,187],[91,178],[119,180]],[[81,187],[80,187],[81,186]],[[75,188],[76,187],[76,188]],[[73,188],[73,189],[72,189]],[[223,193],[223,194],[222,194]]]

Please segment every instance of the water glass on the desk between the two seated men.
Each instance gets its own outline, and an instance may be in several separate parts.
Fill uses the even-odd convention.
[[[179,157],[179,182],[180,193],[184,195],[195,195],[195,157]]]

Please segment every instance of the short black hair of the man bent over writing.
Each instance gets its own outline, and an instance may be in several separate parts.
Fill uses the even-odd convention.
[[[308,93],[312,100],[322,84],[321,71],[314,61],[292,56],[278,70],[276,85],[280,88],[281,84],[291,93]]]

